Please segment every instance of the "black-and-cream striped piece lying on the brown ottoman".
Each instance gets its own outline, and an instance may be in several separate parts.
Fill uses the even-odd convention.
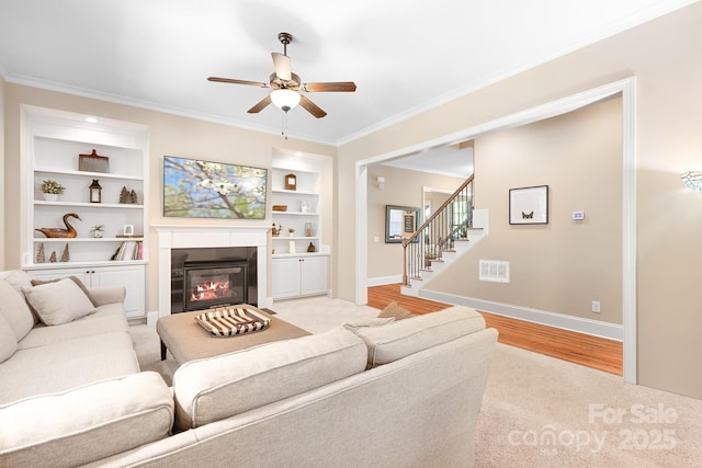
[[[253,333],[265,330],[271,324],[270,318],[254,307],[247,305],[210,309],[195,316],[195,321],[210,334],[217,338]]]

